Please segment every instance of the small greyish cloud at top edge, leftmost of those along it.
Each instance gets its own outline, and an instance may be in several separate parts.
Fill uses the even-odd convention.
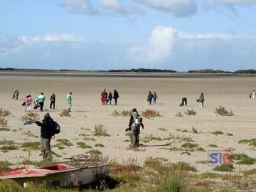
[[[63,0],[60,6],[64,6],[67,11],[75,14],[98,14],[90,0]]]

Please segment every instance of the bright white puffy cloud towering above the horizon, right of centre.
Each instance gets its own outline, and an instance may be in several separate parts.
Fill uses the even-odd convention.
[[[176,29],[158,26],[151,33],[151,38],[146,45],[133,46],[129,55],[136,62],[158,63],[169,58],[176,38]]]

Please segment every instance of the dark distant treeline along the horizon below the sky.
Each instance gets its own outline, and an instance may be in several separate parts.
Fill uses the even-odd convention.
[[[0,68],[1,70],[8,71],[24,71],[24,72],[111,72],[111,73],[177,73],[176,70],[161,70],[161,69],[130,69],[130,70],[46,70],[46,69],[17,69],[17,68]],[[213,70],[213,69],[203,69],[203,70],[188,70],[188,73],[208,73],[208,74],[256,74],[256,70],[236,70],[234,72],[225,70]]]

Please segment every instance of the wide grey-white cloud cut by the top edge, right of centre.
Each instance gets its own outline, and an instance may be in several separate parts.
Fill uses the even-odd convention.
[[[176,17],[196,14],[197,5],[193,0],[137,0],[154,9],[171,12]]]

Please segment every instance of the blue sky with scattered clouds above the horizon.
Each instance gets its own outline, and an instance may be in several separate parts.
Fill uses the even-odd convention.
[[[0,68],[255,69],[256,0],[1,0]]]

